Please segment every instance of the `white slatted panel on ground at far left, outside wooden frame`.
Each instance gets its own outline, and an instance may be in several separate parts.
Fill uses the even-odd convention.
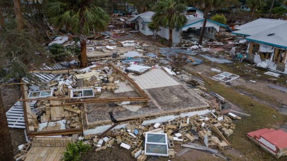
[[[30,101],[31,109],[34,109],[37,101]],[[7,112],[6,117],[8,127],[25,129],[25,119],[23,111],[23,102],[17,101]]]

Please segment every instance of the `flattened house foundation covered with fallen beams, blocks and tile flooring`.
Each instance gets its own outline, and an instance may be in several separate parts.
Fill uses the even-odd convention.
[[[132,73],[123,73],[125,69]],[[112,126],[111,118],[127,121],[115,127],[121,128],[129,120],[142,119],[146,125],[212,109],[161,68],[107,64],[73,69],[55,64],[30,73],[33,79],[22,79],[22,99],[6,113],[9,127],[26,128],[29,138],[97,134]]]

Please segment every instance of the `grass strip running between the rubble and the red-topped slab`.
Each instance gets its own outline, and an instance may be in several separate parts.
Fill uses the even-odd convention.
[[[189,73],[196,76],[197,74],[191,70]],[[261,148],[250,141],[246,134],[250,131],[262,129],[262,128],[274,128],[273,125],[281,125],[287,120],[286,116],[283,116],[277,112],[274,108],[264,105],[258,101],[251,99],[248,96],[240,95],[232,87],[222,85],[212,79],[206,78],[212,85],[206,83],[206,86],[229,100],[231,103],[239,106],[247,113],[251,114],[251,117],[242,117],[242,120],[235,121],[236,128],[234,134],[229,137],[231,146],[244,154],[242,160],[276,160],[271,154],[264,152]],[[274,118],[273,116],[276,116]],[[238,160],[236,158],[235,160]],[[287,160],[287,157],[281,157],[278,160]]]

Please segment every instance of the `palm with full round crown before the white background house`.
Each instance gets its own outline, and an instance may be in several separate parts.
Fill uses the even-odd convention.
[[[154,24],[169,28],[169,45],[172,45],[172,31],[186,25],[188,19],[182,12],[187,10],[186,5],[177,3],[175,0],[159,1],[153,7],[155,14],[152,16]]]

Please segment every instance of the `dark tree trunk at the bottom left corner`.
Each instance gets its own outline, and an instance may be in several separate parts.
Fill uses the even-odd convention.
[[[13,147],[0,89],[0,160],[13,160]]]

